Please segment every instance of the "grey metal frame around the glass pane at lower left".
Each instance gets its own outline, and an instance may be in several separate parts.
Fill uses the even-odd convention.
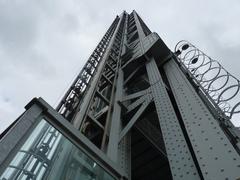
[[[100,149],[42,98],[34,98],[26,105],[25,109],[26,111],[23,115],[18,118],[18,122],[0,139],[0,174],[4,172],[39,122],[45,120],[114,179],[127,179],[126,174],[124,174],[115,162],[111,161]],[[23,125],[26,123],[29,123],[28,127],[23,128]],[[11,134],[18,134],[19,137],[13,139]],[[10,148],[8,151],[4,151],[5,148],[3,147],[6,146]]]

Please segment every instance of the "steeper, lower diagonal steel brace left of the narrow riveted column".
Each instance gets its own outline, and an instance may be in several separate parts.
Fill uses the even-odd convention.
[[[135,113],[135,115],[132,117],[132,119],[129,121],[127,126],[122,130],[119,136],[119,142],[122,140],[122,138],[128,133],[128,131],[133,127],[135,122],[139,119],[139,117],[142,115],[142,113],[146,110],[149,103],[151,102],[151,96],[142,104],[142,106],[139,108],[139,110]]]

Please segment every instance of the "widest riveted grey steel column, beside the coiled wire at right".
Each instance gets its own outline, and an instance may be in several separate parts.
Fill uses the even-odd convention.
[[[239,154],[221,130],[217,120],[173,59],[164,69],[204,178],[239,178]]]

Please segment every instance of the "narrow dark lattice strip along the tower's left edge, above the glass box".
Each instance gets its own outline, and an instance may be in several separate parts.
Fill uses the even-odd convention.
[[[68,117],[70,117],[75,112],[81,99],[85,95],[85,92],[87,91],[100,62],[102,61],[105,51],[117,27],[119,19],[120,18],[118,16],[115,18],[115,20],[107,30],[106,34],[103,36],[103,38],[87,60],[83,69],[73,81],[70,89],[66,92],[65,96],[62,98],[61,102],[57,106],[57,111],[63,114],[63,116],[67,119],[71,119]]]

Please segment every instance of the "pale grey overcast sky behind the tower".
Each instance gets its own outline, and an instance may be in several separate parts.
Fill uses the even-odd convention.
[[[186,39],[240,79],[239,0],[0,0],[0,132],[33,97],[55,106],[117,14],[173,50]]]

